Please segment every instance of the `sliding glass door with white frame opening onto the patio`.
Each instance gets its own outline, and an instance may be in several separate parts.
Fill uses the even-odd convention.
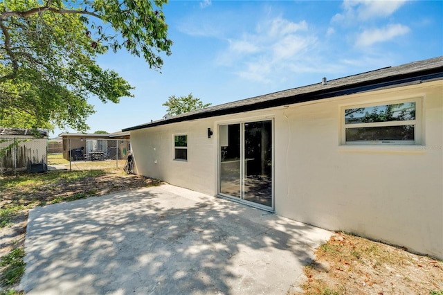
[[[272,121],[219,126],[219,193],[273,208]]]

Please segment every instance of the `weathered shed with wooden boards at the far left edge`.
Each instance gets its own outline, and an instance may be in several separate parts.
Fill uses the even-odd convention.
[[[46,129],[0,127],[0,169],[24,171],[31,163],[47,164],[46,138]]]

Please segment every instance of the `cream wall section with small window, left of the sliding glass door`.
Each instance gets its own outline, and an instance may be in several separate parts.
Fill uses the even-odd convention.
[[[131,131],[136,172],[215,195],[217,137],[208,138],[211,122],[204,119]],[[188,135],[188,161],[174,161],[174,134]]]

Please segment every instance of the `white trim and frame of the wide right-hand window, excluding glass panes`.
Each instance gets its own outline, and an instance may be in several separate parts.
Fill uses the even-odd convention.
[[[404,121],[389,121],[389,122],[377,122],[377,123],[357,123],[357,124],[345,124],[345,109],[355,109],[359,107],[375,107],[378,105],[393,105],[404,102],[415,102],[415,120]],[[341,145],[420,145],[422,143],[422,111],[423,111],[423,98],[405,98],[399,100],[379,100],[377,102],[341,105],[340,107],[340,143]],[[346,141],[346,128],[361,128],[361,127],[383,127],[383,126],[402,126],[402,125],[415,125],[414,127],[414,140],[413,141]]]

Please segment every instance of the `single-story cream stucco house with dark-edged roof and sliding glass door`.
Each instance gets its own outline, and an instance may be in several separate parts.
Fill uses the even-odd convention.
[[[443,57],[123,132],[140,175],[443,258]]]

